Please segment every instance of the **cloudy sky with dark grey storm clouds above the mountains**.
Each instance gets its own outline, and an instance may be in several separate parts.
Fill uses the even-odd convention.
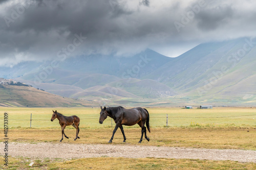
[[[177,57],[194,46],[256,35],[253,0],[0,0],[0,66],[150,48]]]

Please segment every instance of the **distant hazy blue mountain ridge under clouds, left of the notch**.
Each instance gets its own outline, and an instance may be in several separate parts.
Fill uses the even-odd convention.
[[[24,80],[47,83],[74,75],[79,79],[84,76],[83,74],[111,75],[121,79],[141,78],[169,61],[172,61],[172,58],[147,49],[126,57],[90,55],[39,63],[24,62],[12,68],[0,67],[0,77],[8,79],[22,77]]]

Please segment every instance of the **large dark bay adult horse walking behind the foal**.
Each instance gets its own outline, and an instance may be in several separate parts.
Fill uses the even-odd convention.
[[[125,142],[126,137],[124,135],[123,126],[133,126],[138,124],[141,127],[141,138],[139,143],[141,143],[143,138],[143,133],[145,133],[145,138],[147,141],[150,141],[150,138],[146,136],[146,127],[148,132],[150,132],[150,114],[146,109],[142,109],[141,107],[132,108],[132,109],[125,109],[121,106],[118,107],[104,107],[102,108],[100,106],[101,112],[99,116],[99,123],[103,124],[103,121],[106,119],[106,117],[110,116],[114,119],[116,123],[116,127],[113,131],[113,135],[109,141],[109,143],[112,142],[114,138],[114,134],[116,133],[116,130],[118,128],[121,129],[121,132],[123,134],[123,142]],[[146,127],[145,127],[146,123]]]

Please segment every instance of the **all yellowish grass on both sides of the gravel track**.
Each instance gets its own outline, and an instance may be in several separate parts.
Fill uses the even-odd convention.
[[[80,139],[73,141],[75,129],[66,128],[69,139],[62,143],[107,143],[115,123],[107,118],[103,125],[98,123],[99,108],[0,108],[2,117],[8,113],[9,142],[59,142],[61,130],[58,120],[50,121],[52,110],[65,115],[81,118]],[[244,149],[256,150],[256,109],[255,108],[147,108],[150,112],[152,133],[150,142],[143,139],[143,145],[163,145],[169,147]],[[32,128],[30,127],[32,113]],[[168,114],[168,126],[166,126]],[[2,119],[3,119],[2,118]],[[0,124],[3,127],[3,120]],[[138,126],[124,127],[125,144],[138,144]],[[0,141],[3,137],[0,139]],[[118,130],[112,144],[122,143]],[[3,157],[0,157],[2,161]],[[29,163],[35,162],[29,167]],[[236,161],[210,161],[194,159],[157,158],[83,158],[75,160],[30,159],[9,157],[9,169],[256,169],[255,163]],[[0,164],[1,168],[7,168]]]

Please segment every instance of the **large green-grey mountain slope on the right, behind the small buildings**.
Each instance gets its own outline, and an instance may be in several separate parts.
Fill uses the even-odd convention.
[[[256,101],[256,47],[250,38],[196,46],[143,78],[175,89],[197,103]]]

